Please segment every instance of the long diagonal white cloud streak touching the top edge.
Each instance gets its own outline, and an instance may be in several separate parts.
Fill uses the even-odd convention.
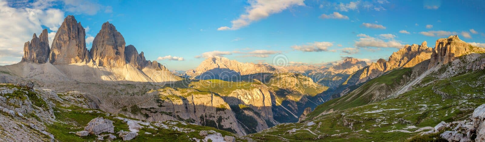
[[[236,30],[246,27],[252,22],[264,19],[271,14],[280,13],[293,5],[305,5],[303,0],[249,0],[251,6],[246,7],[246,13],[232,20],[232,27],[220,27],[217,30]]]

